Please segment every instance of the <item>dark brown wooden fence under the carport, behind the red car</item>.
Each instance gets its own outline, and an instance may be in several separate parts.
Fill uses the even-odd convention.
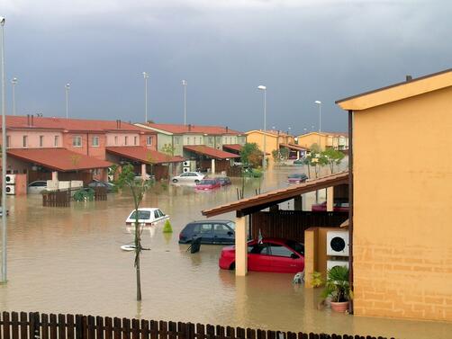
[[[303,210],[276,210],[251,215],[250,235],[282,237],[304,243],[304,231],[309,227],[339,227],[348,219],[348,212],[310,212]]]

